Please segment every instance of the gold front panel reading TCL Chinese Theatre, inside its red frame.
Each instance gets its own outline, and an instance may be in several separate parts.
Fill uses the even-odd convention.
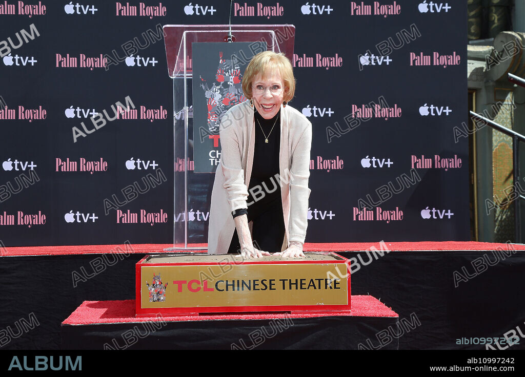
[[[344,263],[142,265],[141,307],[348,305],[347,272]]]

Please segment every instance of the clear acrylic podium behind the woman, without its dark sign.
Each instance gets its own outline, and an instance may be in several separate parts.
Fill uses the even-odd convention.
[[[171,252],[206,250],[214,174],[193,171],[192,43],[266,42],[267,49],[293,58],[293,25],[165,25],[168,73],[173,80],[173,247]],[[193,245],[193,246],[192,246]]]

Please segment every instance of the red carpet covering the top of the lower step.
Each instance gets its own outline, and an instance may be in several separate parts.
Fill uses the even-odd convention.
[[[372,296],[352,296],[351,311],[324,311],[311,314],[286,314],[286,313],[239,313],[227,315],[202,315],[202,316],[175,316],[162,318],[143,317],[135,318],[135,300],[123,301],[84,301],[62,325],[95,325],[116,324],[122,322],[144,321],[204,321],[225,319],[274,319],[274,318],[311,318],[330,316],[354,317],[398,317],[390,308],[387,308],[378,299]]]

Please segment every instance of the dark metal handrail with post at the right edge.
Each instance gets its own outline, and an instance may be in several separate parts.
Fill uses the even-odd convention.
[[[525,80],[522,78],[514,76],[512,73],[508,73],[508,78],[510,82],[525,88]],[[503,127],[502,125],[476,114],[473,111],[470,111],[470,115],[472,119],[484,122],[495,130],[512,137],[512,179],[513,188],[516,190],[516,183],[520,177],[519,142],[525,143],[525,136],[510,130],[510,128]],[[525,200],[525,197],[519,194],[519,196],[514,199],[514,242],[521,243],[521,210],[520,201],[518,199]]]

